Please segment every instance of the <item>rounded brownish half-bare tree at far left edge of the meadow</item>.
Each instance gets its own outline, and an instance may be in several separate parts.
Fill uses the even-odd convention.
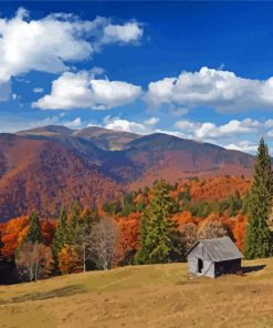
[[[15,258],[19,274],[29,281],[49,276],[53,270],[53,263],[51,248],[39,243],[23,244]]]

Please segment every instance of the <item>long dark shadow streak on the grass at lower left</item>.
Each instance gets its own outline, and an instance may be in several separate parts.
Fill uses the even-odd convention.
[[[83,294],[86,291],[87,289],[84,286],[73,285],[73,286],[66,286],[63,288],[52,289],[51,291],[45,291],[45,293],[24,294],[22,296],[12,297],[9,300],[0,299],[0,305],[11,304],[11,303],[22,303],[27,300],[42,300],[42,299],[49,299],[54,297],[65,297],[65,296],[72,296],[75,294]]]

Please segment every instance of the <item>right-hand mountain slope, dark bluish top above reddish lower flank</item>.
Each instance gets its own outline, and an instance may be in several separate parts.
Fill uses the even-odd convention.
[[[141,174],[132,188],[150,185],[157,178],[252,174],[253,156],[209,143],[183,140],[161,133],[139,137],[125,151]]]

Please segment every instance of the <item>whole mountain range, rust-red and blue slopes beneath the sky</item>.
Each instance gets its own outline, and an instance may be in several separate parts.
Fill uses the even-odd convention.
[[[55,217],[76,198],[98,205],[157,178],[252,174],[252,155],[155,133],[49,125],[0,134],[0,222]]]

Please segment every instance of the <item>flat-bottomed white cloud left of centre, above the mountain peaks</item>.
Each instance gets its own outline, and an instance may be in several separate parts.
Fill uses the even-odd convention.
[[[51,94],[32,104],[43,110],[107,110],[134,102],[141,88],[123,82],[94,79],[93,72],[64,72],[53,81]]]

